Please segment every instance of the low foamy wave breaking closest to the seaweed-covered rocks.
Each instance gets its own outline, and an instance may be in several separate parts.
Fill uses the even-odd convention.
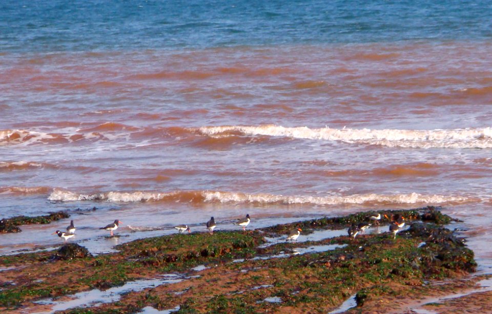
[[[193,202],[193,203],[255,203],[267,204],[312,204],[312,205],[362,205],[362,204],[443,204],[477,201],[461,196],[422,195],[418,193],[380,195],[355,194],[348,196],[284,196],[273,194],[248,194],[219,191],[155,192],[108,192],[79,194],[55,189],[48,197],[51,201],[107,201],[107,202]]]

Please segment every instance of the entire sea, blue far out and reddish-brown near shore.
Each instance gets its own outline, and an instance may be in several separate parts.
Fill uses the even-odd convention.
[[[0,255],[440,206],[492,273],[492,3],[0,2]],[[117,237],[99,229],[120,220]],[[301,235],[302,236],[302,235]]]

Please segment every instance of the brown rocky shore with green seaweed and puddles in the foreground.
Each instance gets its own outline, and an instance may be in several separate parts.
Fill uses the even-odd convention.
[[[432,282],[464,280],[475,271],[473,252],[442,227],[453,218],[435,207],[381,211],[405,215],[411,226],[393,239],[387,232],[389,220],[382,218],[377,232],[351,240],[347,226],[373,213],[246,232],[145,238],[116,246],[117,253],[96,257],[60,257],[53,252],[8,256],[1,262],[0,280],[5,284],[0,305],[12,312],[43,311],[50,306],[67,313],[135,312],[146,306],[179,308],[180,312],[240,308],[245,312],[317,312],[336,309],[355,295],[358,306],[350,311],[377,312],[381,301],[391,299],[394,291],[413,296],[411,300],[435,296]],[[307,236],[286,242],[286,232],[294,227],[302,228]],[[175,277],[165,283],[166,276]],[[67,305],[77,303],[74,294],[80,292],[104,294],[130,286],[134,286],[132,292],[100,306],[77,309]],[[416,290],[420,292],[415,295]]]

